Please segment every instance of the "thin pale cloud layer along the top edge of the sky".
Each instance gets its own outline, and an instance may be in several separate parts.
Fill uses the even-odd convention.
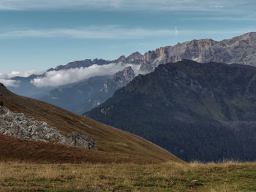
[[[1,0],[0,9],[214,10],[255,6],[254,0]]]

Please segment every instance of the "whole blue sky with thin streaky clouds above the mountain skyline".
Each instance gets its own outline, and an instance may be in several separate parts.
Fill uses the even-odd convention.
[[[0,0],[1,73],[256,31],[256,1]]]

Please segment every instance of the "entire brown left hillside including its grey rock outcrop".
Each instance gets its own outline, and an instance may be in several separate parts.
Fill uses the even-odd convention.
[[[182,162],[167,150],[141,137],[43,101],[18,96],[2,84],[0,101],[4,103],[0,107],[0,159],[3,161]]]

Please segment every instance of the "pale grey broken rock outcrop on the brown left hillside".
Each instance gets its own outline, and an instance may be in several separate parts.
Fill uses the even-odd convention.
[[[55,142],[62,145],[97,150],[96,141],[86,135],[78,132],[72,132],[65,137],[57,128],[49,126],[48,123],[34,120],[34,118],[31,118],[22,112],[12,112],[7,107],[1,106],[0,134],[21,139]]]

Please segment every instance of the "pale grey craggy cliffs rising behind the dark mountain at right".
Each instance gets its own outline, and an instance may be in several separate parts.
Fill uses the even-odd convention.
[[[220,42],[199,39],[178,43],[175,46],[160,47],[143,55],[140,72],[154,71],[159,64],[189,59],[200,63],[210,61],[225,64],[256,65],[256,33],[248,33]]]

